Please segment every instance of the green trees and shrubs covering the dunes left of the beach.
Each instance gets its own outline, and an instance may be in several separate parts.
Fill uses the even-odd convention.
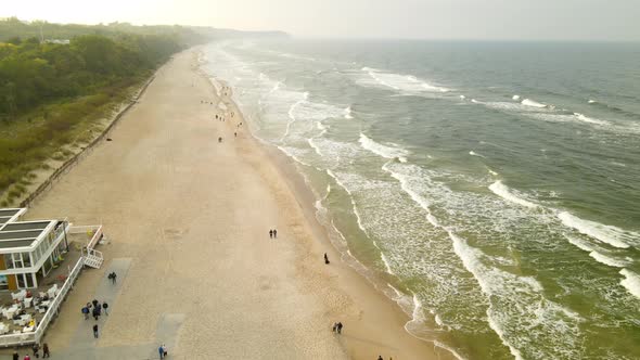
[[[99,121],[171,54],[208,41],[203,31],[179,26],[15,18],[0,21],[0,193],[9,204],[26,191],[21,180],[35,178],[49,159],[68,159],[68,145],[94,138]]]

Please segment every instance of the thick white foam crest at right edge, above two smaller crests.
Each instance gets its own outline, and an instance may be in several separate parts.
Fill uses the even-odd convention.
[[[573,228],[585,235],[614,247],[628,248],[630,244],[637,243],[638,239],[640,239],[638,233],[596,221],[584,220],[567,211],[558,214],[558,218],[565,227]]]

